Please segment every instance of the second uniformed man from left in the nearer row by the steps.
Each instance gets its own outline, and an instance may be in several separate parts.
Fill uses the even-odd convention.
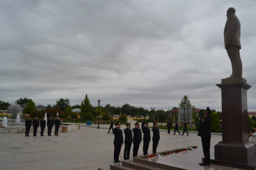
[[[126,124],[126,129],[124,129],[124,160],[130,158],[130,146],[132,146],[132,130],[130,130],[130,123]]]

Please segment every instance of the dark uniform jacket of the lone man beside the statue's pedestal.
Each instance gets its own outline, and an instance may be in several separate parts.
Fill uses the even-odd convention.
[[[211,124],[212,124],[212,118],[210,116],[206,116],[202,118],[199,128],[198,128],[198,135],[201,137],[211,137]]]

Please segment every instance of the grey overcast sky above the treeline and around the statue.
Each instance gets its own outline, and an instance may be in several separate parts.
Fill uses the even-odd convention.
[[[241,22],[248,111],[256,111],[256,2],[0,1],[0,100],[221,110],[216,84],[231,75],[223,30]]]

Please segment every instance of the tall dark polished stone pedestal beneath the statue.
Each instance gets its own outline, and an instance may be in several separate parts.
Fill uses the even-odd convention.
[[[223,163],[256,166],[256,146],[248,141],[246,82],[216,84],[221,88],[223,141],[214,147],[214,159]]]

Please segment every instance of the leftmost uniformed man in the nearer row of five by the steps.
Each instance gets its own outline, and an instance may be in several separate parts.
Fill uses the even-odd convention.
[[[124,143],[124,139],[123,139],[123,132],[120,129],[120,123],[116,122],[115,123],[115,129],[113,131],[114,135],[115,135],[115,139],[114,139],[114,146],[115,146],[115,150],[114,150],[114,163],[120,163],[119,161],[119,154],[121,151],[121,147],[123,146]]]

